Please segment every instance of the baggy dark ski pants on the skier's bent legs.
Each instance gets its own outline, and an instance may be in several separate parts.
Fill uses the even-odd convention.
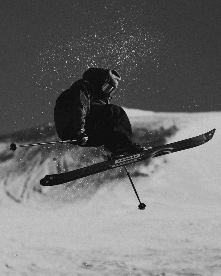
[[[132,128],[128,116],[122,107],[114,104],[91,104],[90,111],[85,119],[85,133],[89,138],[85,145],[74,142],[71,144],[82,147],[104,145],[104,149],[114,153],[116,148],[123,148],[133,142]],[[65,139],[68,140],[69,137]]]

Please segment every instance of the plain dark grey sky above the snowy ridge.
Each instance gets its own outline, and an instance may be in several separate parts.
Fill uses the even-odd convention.
[[[122,76],[111,103],[220,110],[219,1],[5,1],[2,134],[53,122],[58,95],[88,67]]]

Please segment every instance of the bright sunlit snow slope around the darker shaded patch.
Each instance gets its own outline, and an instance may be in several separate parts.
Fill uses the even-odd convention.
[[[150,175],[133,177],[143,211],[126,178],[72,204],[18,204],[2,194],[0,275],[220,275],[221,113],[126,112],[132,125],[175,122],[168,143],[216,132],[202,146],[137,165]]]

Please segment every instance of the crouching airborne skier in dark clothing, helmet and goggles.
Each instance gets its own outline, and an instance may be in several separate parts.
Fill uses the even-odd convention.
[[[133,144],[131,124],[123,108],[110,104],[120,79],[113,69],[90,68],[62,92],[54,108],[59,138],[77,139],[70,143],[82,147],[104,145],[108,158],[145,150]]]

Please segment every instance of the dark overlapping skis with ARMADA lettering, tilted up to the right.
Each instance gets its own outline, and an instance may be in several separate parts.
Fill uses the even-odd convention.
[[[46,175],[44,179],[41,179],[40,184],[42,186],[59,185],[59,184],[67,183],[86,176],[90,176],[96,173],[115,169],[121,166],[126,166],[128,164],[132,164],[135,162],[144,161],[146,159],[162,156],[172,152],[178,152],[184,149],[190,149],[196,146],[200,146],[208,142],[210,139],[212,139],[215,130],[216,129],[213,129],[207,133],[201,134],[196,137],[192,137],[175,143],[159,146],[153,149],[148,149],[146,151],[138,152],[137,154],[126,155],[126,156],[123,156],[122,158],[116,158],[116,159],[104,161],[98,164],[90,165],[77,170],[72,170],[66,173]]]

